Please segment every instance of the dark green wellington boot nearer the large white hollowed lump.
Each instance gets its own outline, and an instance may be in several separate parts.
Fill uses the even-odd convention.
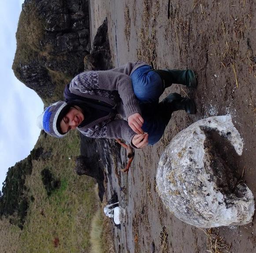
[[[171,93],[159,103],[159,113],[164,118],[166,125],[171,119],[171,114],[178,110],[185,110],[188,114],[195,114],[196,105],[192,99],[183,98],[176,92]]]

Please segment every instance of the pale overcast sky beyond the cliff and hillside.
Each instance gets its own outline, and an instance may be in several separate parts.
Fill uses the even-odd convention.
[[[43,111],[36,92],[18,81],[11,69],[23,2],[0,0],[0,190],[8,168],[26,158],[37,142],[36,118]]]

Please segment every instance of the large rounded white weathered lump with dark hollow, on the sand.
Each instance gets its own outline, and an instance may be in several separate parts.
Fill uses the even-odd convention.
[[[157,169],[157,191],[163,203],[196,227],[251,222],[253,194],[234,177],[242,150],[243,141],[230,116],[209,117],[179,132]]]

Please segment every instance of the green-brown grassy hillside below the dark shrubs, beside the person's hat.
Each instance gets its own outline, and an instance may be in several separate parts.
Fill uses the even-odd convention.
[[[32,160],[31,175],[26,176],[29,208],[23,229],[0,220],[1,252],[78,253],[89,252],[90,224],[98,209],[95,182],[74,172],[74,158],[80,154],[78,133],[56,139],[41,134],[35,148],[52,150],[50,157]],[[47,168],[59,186],[48,194],[41,171]],[[15,214],[11,216],[15,219]]]

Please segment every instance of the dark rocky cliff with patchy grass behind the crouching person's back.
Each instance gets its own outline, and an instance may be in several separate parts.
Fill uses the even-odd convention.
[[[88,0],[25,0],[16,33],[15,76],[45,101],[58,99],[84,70],[89,53]]]

